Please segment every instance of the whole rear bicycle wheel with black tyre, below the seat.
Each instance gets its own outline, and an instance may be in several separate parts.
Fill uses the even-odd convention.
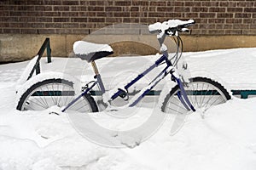
[[[62,107],[72,101],[74,96],[73,82],[61,78],[47,79],[28,88],[21,95],[16,109],[19,111],[43,111],[53,105]],[[84,94],[68,108],[68,111],[97,112],[98,107],[89,94]]]

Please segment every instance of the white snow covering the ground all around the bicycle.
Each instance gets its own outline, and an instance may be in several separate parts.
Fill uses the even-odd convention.
[[[184,56],[192,76],[212,77],[229,89],[256,89],[256,48]],[[113,77],[123,80],[125,77],[120,73],[138,73],[154,59],[154,56],[107,58],[96,63],[107,87],[111,87],[116,83]],[[174,135],[170,135],[170,130],[176,117],[168,115],[143,143],[137,141],[137,136],[135,147],[126,147],[125,140],[133,137],[126,136],[120,138],[123,148],[109,148],[80,135],[67,114],[15,110],[16,84],[27,64],[28,61],[0,65],[0,170],[256,169],[256,98],[233,98],[212,107],[204,118],[195,112],[186,117],[183,127]],[[51,64],[45,64],[43,59],[41,65],[43,72],[64,71],[84,81],[92,78],[90,65],[80,59],[54,58]],[[148,112],[159,111],[155,105],[126,112],[146,116]],[[104,111],[96,116],[101,113]],[[111,128],[108,116],[102,120],[104,126]],[[136,122],[131,118],[129,122],[120,122],[118,128]]]

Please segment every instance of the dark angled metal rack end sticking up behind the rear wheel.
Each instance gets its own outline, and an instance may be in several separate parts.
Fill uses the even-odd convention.
[[[27,77],[27,80],[32,77],[34,71],[36,71],[37,75],[41,72],[41,69],[40,69],[40,59],[42,58],[45,49],[46,49],[46,53],[47,53],[47,62],[51,63],[51,48],[50,48],[50,45],[49,45],[49,37],[45,38],[43,45],[39,49],[37,62],[33,66],[32,71],[29,74],[29,77]]]

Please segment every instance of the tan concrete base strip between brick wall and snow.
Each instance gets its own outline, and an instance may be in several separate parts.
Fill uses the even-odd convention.
[[[89,42],[113,44],[113,50],[116,51],[115,55],[122,54],[122,51],[125,51],[125,54],[127,54],[129,53],[129,50],[131,50],[131,54],[155,54],[156,50],[159,48],[156,35],[85,36],[57,34],[0,34],[0,62],[14,62],[31,59],[38,53],[38,50],[46,37],[50,38],[50,47],[52,48],[52,56],[54,57],[67,57],[72,55],[73,42],[82,39]],[[183,37],[184,51],[205,51],[224,48],[256,48],[256,36],[183,35],[181,37]],[[166,45],[170,43],[173,45],[171,38],[168,38]],[[134,48],[133,45],[137,48]],[[142,49],[138,50],[139,48]],[[172,50],[174,50],[174,48]],[[147,53],[144,53],[145,51]]]

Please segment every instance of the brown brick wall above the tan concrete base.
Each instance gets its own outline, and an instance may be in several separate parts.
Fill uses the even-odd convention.
[[[1,0],[1,34],[89,34],[113,23],[195,19],[194,35],[256,35],[256,2]]]

